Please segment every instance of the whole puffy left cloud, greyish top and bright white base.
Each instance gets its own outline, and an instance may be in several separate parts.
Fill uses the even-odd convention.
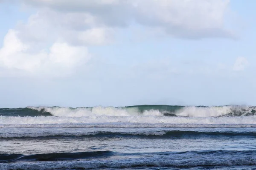
[[[88,45],[112,41],[113,30],[94,27],[87,14],[39,10],[10,29],[0,48],[0,67],[20,75],[67,76],[91,55]],[[84,23],[79,24],[83,20]],[[3,69],[2,69],[3,70]],[[6,74],[4,74],[6,75]]]

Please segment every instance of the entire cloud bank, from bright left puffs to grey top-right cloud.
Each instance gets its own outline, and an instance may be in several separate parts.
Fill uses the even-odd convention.
[[[232,38],[225,27],[229,0],[19,0],[37,12],[10,29],[0,49],[9,73],[67,76],[93,57],[90,46],[115,42],[116,31],[142,26],[166,36]],[[238,61],[239,62],[239,61]],[[234,70],[241,69],[241,65]]]

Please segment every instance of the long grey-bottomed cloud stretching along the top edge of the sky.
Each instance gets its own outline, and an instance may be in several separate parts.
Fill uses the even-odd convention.
[[[62,13],[93,16],[90,21],[109,27],[130,26],[134,21],[161,27],[182,38],[232,37],[224,28],[229,0],[24,0]],[[93,18],[93,20],[92,20]],[[79,23],[84,23],[80,22]],[[76,24],[75,24],[76,25]]]

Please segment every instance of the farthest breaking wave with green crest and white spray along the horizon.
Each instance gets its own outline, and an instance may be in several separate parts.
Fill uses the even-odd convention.
[[[177,106],[177,105],[137,105],[128,107],[27,107],[0,108],[0,116],[188,116],[188,117],[219,117],[219,116],[253,116],[255,106]]]

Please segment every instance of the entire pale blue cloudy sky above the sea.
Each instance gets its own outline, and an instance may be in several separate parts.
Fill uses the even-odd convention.
[[[255,0],[0,0],[0,108],[256,105]]]

